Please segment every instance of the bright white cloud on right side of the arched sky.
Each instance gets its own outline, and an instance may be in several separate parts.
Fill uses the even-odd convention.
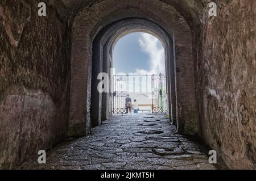
[[[150,71],[137,70],[138,73],[165,73],[164,48],[159,40],[148,33],[142,33],[139,39],[142,50],[150,57]]]

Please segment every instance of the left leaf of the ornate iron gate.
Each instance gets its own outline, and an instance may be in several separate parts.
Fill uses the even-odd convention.
[[[114,75],[113,81],[113,113],[126,113],[125,98],[127,96],[127,76]]]

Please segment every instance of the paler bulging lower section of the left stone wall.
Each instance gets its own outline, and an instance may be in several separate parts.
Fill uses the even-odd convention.
[[[67,133],[67,120],[51,96],[28,90],[22,83],[8,87],[0,99],[0,168],[11,169],[39,150],[47,150]]]

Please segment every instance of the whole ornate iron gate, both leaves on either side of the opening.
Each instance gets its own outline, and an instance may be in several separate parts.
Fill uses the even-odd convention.
[[[113,113],[126,113],[125,98],[127,97],[127,87],[129,76],[134,75],[114,75],[113,76]],[[152,113],[167,112],[167,95],[166,95],[166,76],[163,74],[139,75],[151,77],[151,96],[152,96]],[[150,80],[150,79],[149,79]]]

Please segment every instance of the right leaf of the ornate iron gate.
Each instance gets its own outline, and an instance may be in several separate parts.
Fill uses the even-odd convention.
[[[166,113],[166,76],[152,75],[152,113]]]

